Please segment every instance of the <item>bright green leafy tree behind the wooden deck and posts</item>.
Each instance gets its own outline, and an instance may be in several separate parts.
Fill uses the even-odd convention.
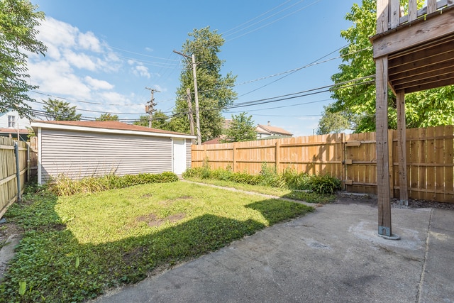
[[[404,8],[408,7],[408,1],[401,3]],[[421,7],[423,0],[419,0],[418,3]],[[376,33],[376,9],[376,0],[362,0],[361,6],[353,4],[350,13],[345,16],[346,20],[353,23],[353,26],[341,31],[341,36],[349,45],[340,52],[343,62],[339,65],[339,72],[331,77],[333,82],[339,85],[331,90],[331,97],[336,101],[331,104],[328,114],[349,113],[351,117],[359,118],[356,133],[375,131],[375,81],[371,77],[343,83],[375,75],[375,62],[369,37]],[[407,128],[454,123],[454,86],[406,94],[405,101]],[[396,106],[396,97],[389,90],[389,128],[397,127]]]

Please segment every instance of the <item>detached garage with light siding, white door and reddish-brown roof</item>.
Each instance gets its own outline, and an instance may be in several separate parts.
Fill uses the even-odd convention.
[[[136,175],[191,166],[194,136],[118,121],[32,121],[38,136],[38,183],[66,175]]]

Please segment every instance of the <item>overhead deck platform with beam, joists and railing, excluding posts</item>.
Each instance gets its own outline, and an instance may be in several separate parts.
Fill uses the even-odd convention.
[[[374,57],[388,56],[389,86],[394,92],[454,84],[454,0],[429,4],[413,16],[400,17],[398,24],[388,22],[387,31],[371,38]]]

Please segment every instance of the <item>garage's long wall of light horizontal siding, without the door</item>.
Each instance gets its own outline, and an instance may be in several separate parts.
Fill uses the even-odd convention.
[[[172,171],[172,138],[51,129],[41,135],[43,181],[61,174],[80,179]]]

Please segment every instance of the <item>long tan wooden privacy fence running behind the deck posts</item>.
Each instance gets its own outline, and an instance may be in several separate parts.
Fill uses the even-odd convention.
[[[397,131],[388,131],[389,184],[399,197]],[[406,130],[406,174],[409,197],[454,203],[453,126]],[[308,174],[330,174],[348,192],[377,194],[375,133],[270,139],[238,143],[192,145],[192,167],[260,172],[262,163]]]

